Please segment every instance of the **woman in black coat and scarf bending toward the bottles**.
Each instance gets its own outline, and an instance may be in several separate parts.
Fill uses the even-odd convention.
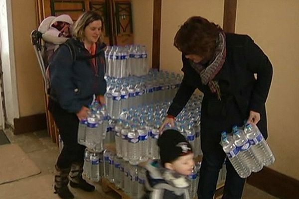
[[[247,35],[224,33],[200,16],[190,17],[178,30],[174,46],[182,52],[184,78],[161,129],[185,106],[195,89],[203,94],[198,198],[212,199],[219,170],[226,157],[220,146],[221,132],[231,132],[244,120],[258,125],[265,138],[265,102],[272,80],[268,57]],[[160,130],[161,130],[160,129]],[[223,199],[240,199],[245,179],[226,161]]]

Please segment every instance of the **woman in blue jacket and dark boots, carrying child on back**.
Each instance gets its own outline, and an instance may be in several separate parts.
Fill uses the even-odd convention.
[[[96,96],[105,103],[104,79],[106,45],[101,43],[102,17],[92,11],[81,15],[73,26],[73,37],[55,52],[50,64],[49,109],[53,114],[64,146],[55,165],[55,193],[62,199],[72,199],[73,188],[94,191],[94,186],[82,179],[85,147],[77,143],[79,120],[87,117],[88,105]]]

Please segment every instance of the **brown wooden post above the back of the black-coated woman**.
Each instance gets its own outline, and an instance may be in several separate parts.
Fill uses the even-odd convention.
[[[235,32],[237,0],[224,1],[223,30],[225,32]]]

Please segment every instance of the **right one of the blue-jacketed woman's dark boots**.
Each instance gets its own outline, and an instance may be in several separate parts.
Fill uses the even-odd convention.
[[[70,172],[70,186],[72,188],[79,188],[86,192],[93,192],[95,190],[95,187],[93,185],[88,184],[82,178],[82,172],[83,172],[83,163],[72,164],[71,172]]]

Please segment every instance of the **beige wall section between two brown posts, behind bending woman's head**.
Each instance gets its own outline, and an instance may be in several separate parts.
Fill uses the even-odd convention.
[[[179,26],[190,16],[201,15],[222,26],[223,0],[162,0],[160,69],[180,72],[181,54],[173,46]]]

